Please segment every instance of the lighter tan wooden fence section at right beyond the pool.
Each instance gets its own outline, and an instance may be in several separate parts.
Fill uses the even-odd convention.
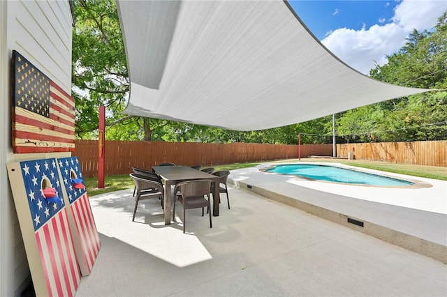
[[[337,155],[358,160],[447,167],[447,140],[337,144]]]

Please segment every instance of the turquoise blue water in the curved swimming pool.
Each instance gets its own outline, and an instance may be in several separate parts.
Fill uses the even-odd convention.
[[[359,185],[376,186],[408,186],[414,185],[411,181],[398,178],[369,174],[357,170],[345,169],[330,165],[316,164],[288,164],[278,165],[266,170],[277,174],[297,175],[312,178],[318,181],[332,181],[335,183],[355,183]]]

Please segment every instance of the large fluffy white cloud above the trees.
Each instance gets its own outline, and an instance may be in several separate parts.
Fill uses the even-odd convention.
[[[392,23],[360,30],[337,29],[321,42],[349,66],[368,74],[374,61],[379,65],[386,63],[386,54],[399,50],[413,29],[431,29],[446,10],[447,1],[402,0],[395,7]]]

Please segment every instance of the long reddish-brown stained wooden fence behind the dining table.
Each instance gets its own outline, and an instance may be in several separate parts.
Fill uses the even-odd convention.
[[[98,174],[98,141],[76,140],[73,155],[84,177]],[[332,144],[305,144],[301,157],[332,155]],[[198,142],[105,142],[105,175],[128,174],[131,167],[151,168],[162,162],[203,166],[298,158],[298,145],[203,144]]]

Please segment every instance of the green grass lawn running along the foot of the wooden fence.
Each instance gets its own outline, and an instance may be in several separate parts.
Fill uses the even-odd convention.
[[[296,159],[280,160],[276,162],[296,162]],[[339,162],[346,165],[352,165],[356,167],[381,170],[383,172],[393,172],[397,174],[407,174],[411,176],[419,176],[425,178],[434,178],[441,181],[447,181],[447,168],[446,167],[434,167],[423,165],[406,165],[395,164],[390,162],[374,162],[366,160],[343,160],[343,159],[301,159],[302,162]],[[254,167],[261,163],[235,163],[228,165],[213,166],[217,171],[220,170],[233,170],[247,167]],[[98,178],[85,178],[85,184],[89,196],[100,195],[107,192],[115,192],[124,189],[133,189],[134,183],[129,174],[106,176],[104,185],[105,188],[98,189]]]

